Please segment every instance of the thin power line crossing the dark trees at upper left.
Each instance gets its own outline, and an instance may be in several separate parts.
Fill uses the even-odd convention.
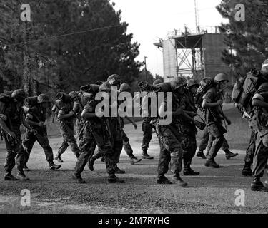
[[[50,37],[39,38],[39,39],[31,40],[31,41],[28,41],[28,42],[11,43],[11,44],[6,44],[4,46],[1,46],[1,48],[10,47],[10,46],[17,46],[17,45],[26,44],[26,43],[34,43],[34,42],[38,42],[38,41],[52,40],[54,38],[62,38],[62,37],[65,37],[65,36],[72,36],[72,35],[76,35],[76,34],[87,33],[87,32],[90,32],[90,31],[99,31],[99,30],[108,29],[108,28],[115,28],[115,27],[119,27],[119,26],[124,26],[124,25],[117,24],[117,25],[114,25],[114,26],[105,26],[105,27],[101,27],[101,28],[93,28],[93,29],[88,29],[88,30],[84,30],[84,31],[77,31],[77,32],[74,32],[74,33],[66,33],[66,34],[59,35],[59,36],[50,36]]]

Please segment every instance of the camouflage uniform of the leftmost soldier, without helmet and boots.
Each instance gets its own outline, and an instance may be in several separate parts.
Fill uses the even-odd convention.
[[[25,150],[22,145],[20,126],[22,124],[23,110],[16,108],[16,103],[10,98],[9,102],[0,102],[0,114],[7,117],[4,121],[6,126],[16,134],[16,142],[10,140],[6,133],[4,133],[4,139],[6,142],[6,162],[4,170],[6,175],[11,175],[11,171],[16,165],[18,174],[24,175],[24,161],[25,161]]]

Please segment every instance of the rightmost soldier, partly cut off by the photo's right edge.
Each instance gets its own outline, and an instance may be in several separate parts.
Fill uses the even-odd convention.
[[[267,62],[264,61],[262,70],[266,68],[266,64]],[[268,192],[268,182],[266,181],[265,185],[261,182],[268,160],[268,82],[264,82],[259,86],[259,89],[252,98],[252,105],[254,106],[254,117],[252,119],[256,119],[258,125],[255,134],[256,145],[253,158],[251,189],[252,191]]]

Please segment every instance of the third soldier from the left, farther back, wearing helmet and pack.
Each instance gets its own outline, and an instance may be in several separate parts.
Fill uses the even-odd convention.
[[[61,155],[67,150],[70,146],[71,151],[74,153],[76,158],[79,157],[80,150],[76,142],[76,138],[74,138],[74,117],[75,112],[73,110],[73,102],[71,100],[71,96],[66,95],[66,93],[58,93],[56,95],[56,100],[59,103],[62,103],[63,107],[59,110],[58,121],[59,121],[59,129],[61,131],[61,135],[64,138],[64,141],[59,148],[59,151],[55,157],[55,160],[58,162],[64,162],[61,159]]]

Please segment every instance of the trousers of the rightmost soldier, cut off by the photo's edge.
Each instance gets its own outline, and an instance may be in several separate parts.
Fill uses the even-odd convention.
[[[267,130],[268,134],[268,130]],[[253,157],[252,177],[263,177],[265,166],[268,160],[268,145],[267,135],[262,136],[263,133],[257,131],[256,133],[256,147]],[[264,141],[266,140],[266,142]]]

